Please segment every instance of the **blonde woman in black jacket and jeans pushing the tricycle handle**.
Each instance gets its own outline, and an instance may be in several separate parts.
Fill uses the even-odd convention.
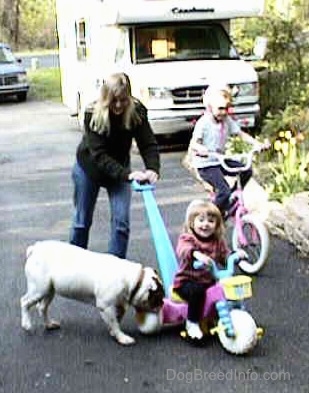
[[[130,150],[135,139],[145,170],[134,171]],[[127,75],[111,75],[99,100],[85,113],[85,134],[73,167],[75,213],[70,243],[87,248],[100,187],[111,209],[108,252],[126,257],[130,233],[131,180],[155,183],[159,177],[158,145],[146,108],[132,97]]]

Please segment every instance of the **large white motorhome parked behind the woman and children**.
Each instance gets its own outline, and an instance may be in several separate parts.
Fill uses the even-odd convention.
[[[233,18],[260,16],[264,0],[56,0],[63,102],[78,114],[117,71],[148,108],[155,133],[190,131],[214,81],[237,92],[240,125],[259,122],[258,76],[229,36]]]

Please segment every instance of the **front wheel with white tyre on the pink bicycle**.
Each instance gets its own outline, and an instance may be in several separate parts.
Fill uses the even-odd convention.
[[[233,249],[241,248],[248,254],[248,261],[241,261],[239,268],[247,274],[258,273],[266,264],[269,251],[269,234],[265,224],[253,215],[241,217],[244,241],[240,238],[236,227],[232,233]]]

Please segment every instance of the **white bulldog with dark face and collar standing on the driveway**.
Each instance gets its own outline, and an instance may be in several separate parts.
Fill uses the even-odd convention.
[[[27,249],[27,293],[21,297],[21,326],[32,327],[30,308],[37,305],[47,329],[60,327],[48,317],[48,306],[57,293],[95,305],[111,336],[123,345],[134,338],[120,328],[132,305],[137,311],[155,311],[163,305],[164,290],[156,271],[111,254],[84,250],[71,244],[45,240]]]

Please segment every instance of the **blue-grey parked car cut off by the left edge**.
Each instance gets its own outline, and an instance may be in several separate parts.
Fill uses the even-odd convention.
[[[0,97],[16,96],[26,101],[29,90],[27,73],[8,44],[0,43]]]

